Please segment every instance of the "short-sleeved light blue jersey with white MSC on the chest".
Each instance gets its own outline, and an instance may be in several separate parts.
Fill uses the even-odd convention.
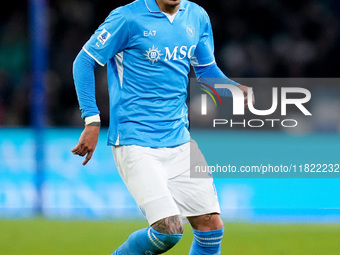
[[[112,11],[83,49],[107,64],[109,145],[173,147],[190,140],[190,64],[215,61],[203,8],[182,0],[171,22],[155,0],[137,0]]]

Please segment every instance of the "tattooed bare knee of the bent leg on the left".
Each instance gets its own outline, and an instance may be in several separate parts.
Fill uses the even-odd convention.
[[[163,234],[183,234],[183,223],[179,215],[156,221],[151,227]]]

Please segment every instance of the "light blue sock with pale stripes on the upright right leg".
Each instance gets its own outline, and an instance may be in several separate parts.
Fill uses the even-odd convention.
[[[193,229],[194,240],[189,255],[219,255],[224,228],[212,231]]]

